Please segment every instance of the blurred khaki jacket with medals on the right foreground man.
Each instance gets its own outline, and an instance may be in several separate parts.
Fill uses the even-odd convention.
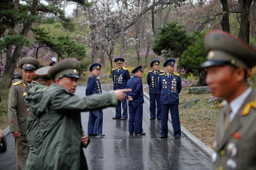
[[[214,169],[256,169],[256,94],[249,94],[225,131],[227,108],[223,106],[218,118]]]

